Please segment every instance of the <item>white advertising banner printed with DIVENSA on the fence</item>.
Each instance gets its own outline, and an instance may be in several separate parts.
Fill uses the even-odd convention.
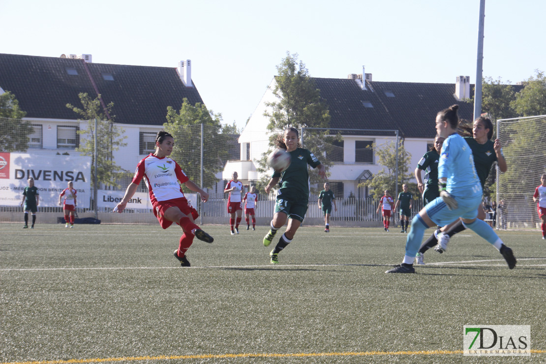
[[[38,208],[60,206],[59,195],[69,181],[76,190],[77,207],[90,206],[91,157],[0,153],[0,205],[19,206],[30,177],[38,188]]]

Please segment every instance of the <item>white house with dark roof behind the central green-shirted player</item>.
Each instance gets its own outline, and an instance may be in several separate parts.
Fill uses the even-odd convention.
[[[358,184],[383,168],[377,164],[375,153],[366,150],[372,142],[379,146],[395,141],[393,130],[398,130],[406,151],[411,154],[410,171],[413,171],[434,142],[438,111],[459,104],[461,118],[471,120],[473,116],[473,105],[464,100],[473,94],[468,76],[458,76],[454,83],[419,83],[373,81],[364,69],[363,74],[364,82],[362,74],[349,74],[347,79],[313,77],[328,105],[330,128],[343,138],[339,144],[341,154],[329,168],[331,188],[338,198],[364,197],[366,191],[359,189]],[[274,87],[275,77],[239,137],[241,160],[231,162],[230,168],[239,170],[242,180],[260,177],[255,161],[268,150],[269,119],[264,113],[267,103],[277,101],[272,92]],[[379,129],[389,132],[371,131]],[[394,195],[394,191],[391,193]]]

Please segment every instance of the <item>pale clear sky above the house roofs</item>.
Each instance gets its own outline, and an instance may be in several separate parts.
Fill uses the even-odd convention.
[[[476,81],[479,0],[0,0],[1,53],[176,67],[224,123],[243,127],[286,52],[313,77]],[[546,71],[546,2],[486,0],[483,75]],[[179,105],[173,105],[179,106]],[[114,106],[115,107],[115,106]]]

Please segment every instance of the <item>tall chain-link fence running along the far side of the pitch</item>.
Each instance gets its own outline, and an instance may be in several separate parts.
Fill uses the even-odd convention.
[[[134,169],[139,160],[155,150],[155,136],[162,127],[132,127],[123,124],[114,124],[127,135],[126,147],[118,151],[98,150],[99,153],[110,153],[110,162],[114,162],[118,170],[112,174],[106,164],[97,169],[97,182],[94,181],[93,153],[81,152],[80,145],[83,134],[79,130],[86,130],[93,123],[83,122],[44,122],[20,121],[13,119],[0,120],[0,221],[17,222],[22,220],[22,191],[27,186],[27,179],[32,177],[39,190],[39,219],[41,222],[56,223],[62,216],[62,207],[58,204],[58,195],[67,187],[68,181],[73,181],[78,192],[77,212],[80,217],[94,217],[103,223],[133,223],[155,224],[148,190],[144,181],[140,183],[132,200],[122,214],[112,213],[112,209],[123,198],[124,192],[131,182]],[[14,123],[23,123],[25,128],[8,126]],[[17,131],[19,130],[19,131]],[[201,203],[197,194],[185,189],[188,200],[198,209],[201,224],[228,224],[227,213],[228,194],[223,190],[232,171],[225,171],[230,162],[246,162],[248,165],[259,166],[264,152],[269,148],[268,138],[262,142],[256,141],[263,149],[259,151],[256,145],[243,150],[238,142],[238,135],[218,134],[215,127],[207,125],[193,125],[177,127],[169,130],[175,137],[175,149],[171,157],[176,160],[188,177],[198,186],[202,186],[210,198]],[[358,134],[358,133],[356,133]],[[343,138],[339,135],[318,135],[305,132],[302,135],[304,147],[317,153],[317,156],[327,166],[330,174],[330,188],[336,195],[337,211],[332,212],[333,226],[366,226],[378,224],[381,216],[376,213],[378,201],[367,195],[365,187],[359,183],[369,178],[373,171],[378,169],[374,160],[372,142],[393,140],[390,136],[378,135],[374,138],[353,138],[354,153],[352,161],[358,169],[357,177],[347,180],[341,177],[336,168],[347,162],[347,142],[343,145]],[[82,155],[89,154],[89,155]],[[109,158],[97,158],[108,160]],[[114,167],[111,167],[112,169]],[[101,178],[101,171],[110,173],[108,181]],[[239,171],[239,174],[241,172]],[[247,179],[242,182],[247,186],[258,185],[259,178],[263,177],[256,168],[246,173]],[[265,172],[267,176],[267,172]],[[307,211],[306,225],[322,225],[324,222],[322,211],[319,210],[318,193],[322,190],[322,183],[318,176],[311,172],[311,196]],[[345,179],[343,179],[345,178]],[[96,188],[95,188],[96,186]],[[245,190],[245,192],[248,189]],[[258,202],[255,208],[258,224],[269,224],[275,205],[275,193],[266,195],[258,190]],[[395,195],[393,195],[395,197]],[[419,211],[419,200],[413,204],[414,211]],[[393,217],[394,218],[394,217]],[[397,217],[396,217],[397,218]],[[244,218],[243,218],[244,222]]]

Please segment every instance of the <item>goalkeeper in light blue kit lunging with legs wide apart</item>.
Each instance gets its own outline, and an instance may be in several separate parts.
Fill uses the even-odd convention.
[[[436,131],[438,135],[446,138],[438,164],[440,197],[429,202],[413,218],[402,264],[385,273],[415,273],[413,261],[425,229],[447,225],[459,217],[466,228],[473,230],[499,250],[508,263],[508,268],[515,267],[516,259],[512,249],[502,243],[491,226],[476,219],[478,206],[482,203],[482,186],[474,167],[472,151],[456,132],[459,124],[458,108],[459,105],[452,105],[438,112],[436,116]],[[446,250],[446,247],[443,246],[442,249]]]

